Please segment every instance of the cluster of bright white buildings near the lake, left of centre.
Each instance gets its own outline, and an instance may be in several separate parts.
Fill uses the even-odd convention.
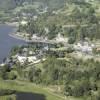
[[[23,48],[21,54],[17,53],[13,59],[16,59],[20,64],[27,63],[39,63],[45,61],[43,50],[48,50],[48,46],[43,47],[41,50],[32,51],[28,48]]]

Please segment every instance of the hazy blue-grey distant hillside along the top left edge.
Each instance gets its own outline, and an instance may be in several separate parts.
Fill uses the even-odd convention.
[[[64,5],[64,0],[0,0],[0,8],[9,10],[18,6],[22,6],[24,3],[32,4],[34,2],[41,2],[53,8]]]

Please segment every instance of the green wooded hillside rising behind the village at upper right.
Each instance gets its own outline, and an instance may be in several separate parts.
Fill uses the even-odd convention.
[[[38,33],[39,36],[48,35],[47,37],[50,39],[55,38],[58,33],[73,38],[75,41],[86,37],[91,40],[99,39],[99,9],[99,1],[76,0],[73,2],[66,0],[62,7],[52,10],[48,8],[46,13],[41,13],[38,10],[37,20],[35,22],[34,19],[28,20],[30,25],[25,26],[26,28],[20,26],[19,31],[26,31],[30,34]],[[45,28],[49,29],[48,34],[45,34]]]

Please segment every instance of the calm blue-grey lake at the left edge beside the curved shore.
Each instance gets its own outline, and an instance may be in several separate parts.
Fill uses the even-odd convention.
[[[15,29],[14,26],[0,25],[0,63],[8,56],[13,46],[25,44],[24,41],[9,36]]]

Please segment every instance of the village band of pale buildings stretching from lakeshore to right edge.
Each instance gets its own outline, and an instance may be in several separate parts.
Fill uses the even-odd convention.
[[[37,37],[34,37],[37,39]],[[70,50],[70,55],[72,55],[75,58],[82,58],[82,59],[100,59],[99,54],[99,46],[89,43],[89,42],[78,42],[74,44],[68,44],[67,42],[63,41],[65,38],[58,36],[57,38],[60,43],[63,45],[57,46],[50,46],[48,44],[43,45],[42,47],[34,48],[34,47],[23,47],[20,49],[20,51],[16,52],[16,54],[10,56],[10,58],[7,58],[5,62],[1,64],[1,66],[4,66],[5,64],[12,65],[14,63],[20,63],[21,65],[28,63],[28,64],[38,64],[40,62],[43,62],[48,57],[48,54],[58,55],[58,58],[65,57],[66,53],[69,53],[68,50]],[[66,43],[66,44],[65,44]],[[37,45],[38,43],[36,43]],[[32,44],[31,44],[32,45]],[[33,44],[34,45],[34,44]]]

